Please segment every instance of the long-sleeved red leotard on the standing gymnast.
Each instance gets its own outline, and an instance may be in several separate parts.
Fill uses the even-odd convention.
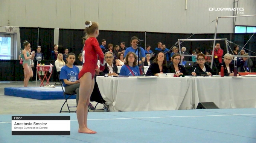
[[[84,49],[83,49],[83,68],[79,72],[78,79],[80,79],[85,73],[91,73],[91,79],[95,76],[95,69],[98,69],[98,56],[100,63],[104,63],[104,53],[102,52],[99,42],[96,38],[90,37],[85,40]],[[104,66],[100,66],[101,71],[105,69]]]

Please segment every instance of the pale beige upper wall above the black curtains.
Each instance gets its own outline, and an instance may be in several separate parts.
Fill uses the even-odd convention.
[[[251,15],[255,5],[255,0],[239,0],[238,7]],[[99,22],[100,30],[166,33],[213,33],[217,16],[233,15],[209,11],[233,7],[233,0],[187,0],[187,10],[185,0],[6,0],[1,7],[1,25],[10,19],[12,26],[84,29],[89,20]],[[237,18],[236,24],[256,25],[256,18]],[[232,30],[233,18],[219,20],[218,33]]]

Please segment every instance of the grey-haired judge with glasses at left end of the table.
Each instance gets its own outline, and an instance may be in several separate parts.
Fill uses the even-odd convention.
[[[104,71],[100,72],[99,74],[101,76],[105,76],[105,74],[108,74],[108,76],[118,76],[117,74],[117,66],[113,64],[114,60],[114,54],[113,52],[106,52],[105,53],[105,69]]]

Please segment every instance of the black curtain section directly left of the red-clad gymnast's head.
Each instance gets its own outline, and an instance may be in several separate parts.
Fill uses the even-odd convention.
[[[84,30],[59,29],[58,51],[64,53],[64,49],[68,48],[69,52],[73,52],[78,57],[84,47],[82,37],[84,37]]]

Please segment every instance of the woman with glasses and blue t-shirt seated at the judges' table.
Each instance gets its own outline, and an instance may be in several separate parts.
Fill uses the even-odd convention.
[[[125,56],[125,64],[120,69],[120,76],[140,76],[140,69],[137,66],[137,55],[128,52]]]

